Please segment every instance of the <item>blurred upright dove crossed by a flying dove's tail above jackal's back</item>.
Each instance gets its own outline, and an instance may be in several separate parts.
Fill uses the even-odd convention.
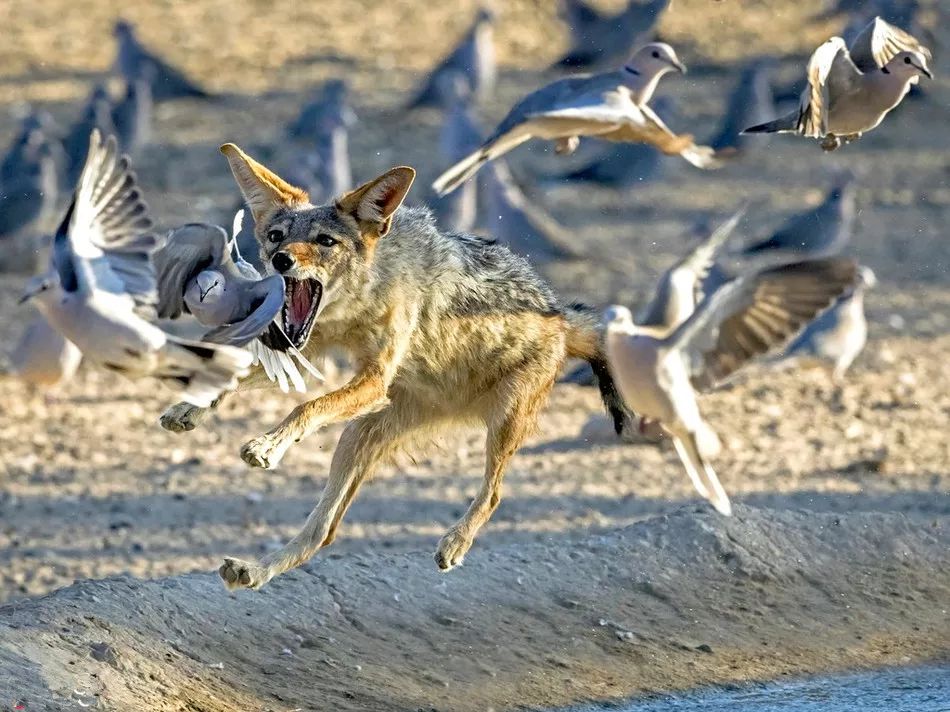
[[[471,111],[471,91],[458,72],[443,74],[440,91],[445,100],[442,130],[439,133],[439,156],[447,163],[460,161],[482,143],[482,132]],[[468,181],[449,195],[432,195],[429,207],[435,212],[439,225],[470,232],[478,220],[479,183]]]

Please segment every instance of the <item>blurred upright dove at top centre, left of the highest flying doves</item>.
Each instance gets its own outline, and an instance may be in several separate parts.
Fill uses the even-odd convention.
[[[472,95],[484,101],[495,87],[494,21],[495,14],[491,10],[479,9],[468,32],[423,80],[407,108],[444,106],[449,97],[443,94],[445,84],[441,78],[456,72],[465,78]]]

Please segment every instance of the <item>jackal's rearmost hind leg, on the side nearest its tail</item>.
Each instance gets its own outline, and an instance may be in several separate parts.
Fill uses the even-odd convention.
[[[554,386],[557,370],[557,363],[544,364],[543,368],[527,366],[496,387],[498,401],[488,418],[485,480],[468,511],[439,542],[435,562],[442,571],[462,563],[478,530],[498,507],[508,463],[534,429],[538,413]]]

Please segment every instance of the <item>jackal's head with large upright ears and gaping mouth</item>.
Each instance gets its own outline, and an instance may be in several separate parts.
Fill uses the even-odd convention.
[[[261,257],[286,282],[283,328],[299,348],[328,305],[364,292],[376,245],[389,232],[416,172],[392,168],[330,205],[314,206],[306,191],[234,144],[221,152],[254,216]]]

